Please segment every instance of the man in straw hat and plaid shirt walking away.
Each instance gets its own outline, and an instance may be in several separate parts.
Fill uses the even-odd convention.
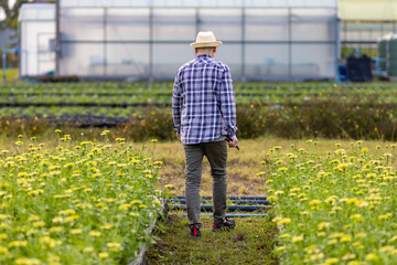
[[[236,147],[236,106],[228,66],[214,60],[216,41],[213,32],[198,32],[191,43],[196,59],[184,64],[175,76],[172,116],[176,136],[183,144],[186,160],[186,205],[190,237],[201,236],[200,184],[205,156],[213,177],[213,231],[233,229],[236,223],[226,213],[226,160],[229,147]]]

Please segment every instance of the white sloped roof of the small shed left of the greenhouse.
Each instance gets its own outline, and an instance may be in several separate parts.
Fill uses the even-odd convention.
[[[55,21],[55,4],[52,3],[24,3],[21,7],[18,21]]]

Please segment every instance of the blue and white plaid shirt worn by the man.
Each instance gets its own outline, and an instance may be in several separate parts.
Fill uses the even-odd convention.
[[[175,76],[172,117],[184,145],[236,135],[236,105],[228,66],[201,54]]]

